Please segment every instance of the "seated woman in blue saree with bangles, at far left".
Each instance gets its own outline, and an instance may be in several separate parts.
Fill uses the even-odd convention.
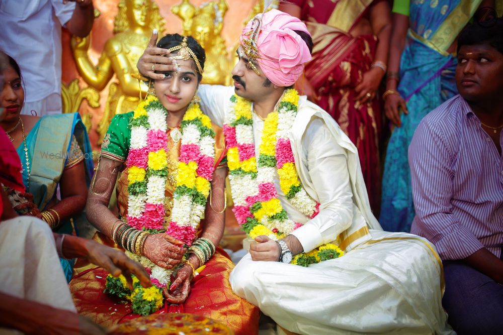
[[[72,219],[86,205],[93,171],[86,128],[77,113],[42,118],[20,115],[24,90],[19,66],[13,58],[9,57],[3,75],[0,106],[5,111],[0,126],[17,148],[26,192],[33,195],[40,210],[31,214],[46,221],[54,232],[72,234]],[[11,200],[16,198],[20,199],[20,194],[13,194]],[[61,266],[69,281],[73,260],[61,259]]]

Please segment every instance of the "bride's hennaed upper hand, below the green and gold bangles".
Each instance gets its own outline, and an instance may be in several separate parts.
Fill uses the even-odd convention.
[[[183,242],[165,233],[149,235],[143,246],[143,255],[165,269],[178,265],[185,252]]]

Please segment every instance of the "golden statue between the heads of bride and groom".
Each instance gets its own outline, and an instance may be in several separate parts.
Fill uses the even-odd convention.
[[[206,52],[204,84],[230,85],[232,81],[230,72],[234,64],[220,36],[227,9],[225,0],[204,3],[200,8],[194,7],[189,0],[183,0],[171,10],[183,21],[182,34],[192,35]]]

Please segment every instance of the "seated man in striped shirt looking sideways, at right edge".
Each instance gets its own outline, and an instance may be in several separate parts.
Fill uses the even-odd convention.
[[[458,39],[454,96],[426,116],[409,147],[416,216],[443,260],[442,300],[458,333],[503,329],[503,21]]]

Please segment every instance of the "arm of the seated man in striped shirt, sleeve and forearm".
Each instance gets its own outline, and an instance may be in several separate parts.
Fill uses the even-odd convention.
[[[428,120],[417,127],[409,147],[415,224],[437,247],[442,260],[463,260],[497,282],[503,261],[484,248],[452,212],[452,150],[442,130]]]

